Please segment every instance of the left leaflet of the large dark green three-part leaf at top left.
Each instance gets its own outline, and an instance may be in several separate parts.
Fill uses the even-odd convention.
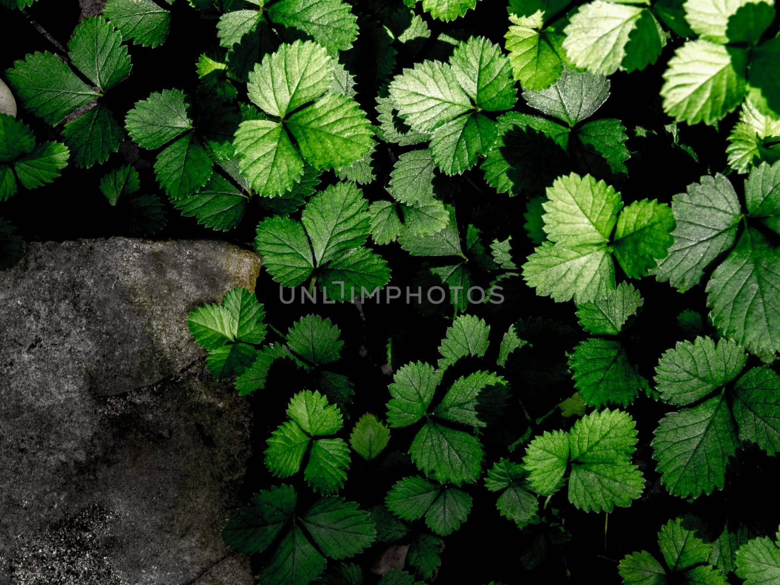
[[[66,62],[48,51],[15,61],[5,79],[23,107],[52,126],[99,95]]]

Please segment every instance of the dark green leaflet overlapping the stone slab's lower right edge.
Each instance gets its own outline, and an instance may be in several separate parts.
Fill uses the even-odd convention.
[[[245,554],[263,552],[293,516],[295,505],[296,493],[289,485],[257,492],[222,530],[225,544]]]

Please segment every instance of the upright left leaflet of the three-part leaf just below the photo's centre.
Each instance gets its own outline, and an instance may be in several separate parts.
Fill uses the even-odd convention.
[[[407,363],[395,372],[393,383],[388,385],[392,399],[388,402],[388,424],[391,427],[408,427],[425,416],[440,374],[427,363]]]

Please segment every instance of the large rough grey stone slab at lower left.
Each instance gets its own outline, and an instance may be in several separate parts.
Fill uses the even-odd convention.
[[[34,243],[0,273],[0,585],[252,583],[220,537],[250,413],[186,315],[259,264],[115,238]]]

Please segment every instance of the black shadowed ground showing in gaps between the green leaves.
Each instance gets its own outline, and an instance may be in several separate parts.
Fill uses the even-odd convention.
[[[63,45],[67,43],[80,18],[76,0],[41,0],[26,12]],[[470,32],[473,34],[484,34],[503,46],[506,30],[504,2],[484,0],[480,2],[477,16],[473,16],[473,12],[469,14],[471,16],[454,24],[472,27]],[[29,52],[54,50],[21,12],[2,10],[0,18],[0,68],[3,70],[12,66],[14,59],[23,58]],[[445,23],[438,21],[434,21],[432,28],[434,33],[437,30],[449,30]],[[360,42],[363,42],[363,37],[358,41],[356,55],[363,57],[353,61],[353,73],[356,74],[360,91],[358,99],[373,116],[373,96],[377,91],[373,83],[374,62],[369,49],[360,52]],[[195,62],[198,56],[216,46],[215,21],[200,18],[183,0],[176,2],[172,9],[172,29],[168,40],[154,49],[130,45],[133,73],[129,80],[104,98],[104,103],[122,119],[124,112],[132,108],[134,102],[144,99],[152,91],[178,87],[192,93],[197,83]],[[598,117],[621,119],[629,131],[628,146],[632,152],[628,162],[629,178],[616,183],[626,203],[644,197],[670,202],[672,195],[685,190],[688,183],[707,173],[722,172],[726,167],[725,138],[736,115],[725,119],[719,129],[703,125],[680,127],[680,142],[693,149],[698,162],[675,147],[672,138],[663,131],[663,126],[671,120],[661,112],[658,91],[662,83],[661,73],[674,47],[674,43],[668,44],[658,64],[643,73],[630,76],[618,73],[612,76],[612,97],[597,113]],[[399,65],[411,66],[411,62],[400,62]],[[239,91],[242,90],[243,87],[239,87]],[[58,129],[49,128],[31,115],[21,113],[20,118],[34,129],[38,140],[58,137]],[[635,137],[633,129],[636,126],[654,129],[656,134],[645,138]],[[385,198],[383,184],[392,169],[392,161],[404,150],[393,146],[378,154],[378,180],[364,188],[369,199]],[[132,152],[132,149],[112,154],[108,163],[88,170],[69,166],[55,183],[38,190],[17,193],[9,202],[0,204],[0,215],[16,225],[26,240],[126,234],[126,212],[121,206],[109,206],[98,190],[99,180],[105,171],[111,165],[122,164],[126,160],[123,152]],[[151,153],[140,152],[137,166],[140,168],[142,193],[159,192],[151,161]],[[334,181],[335,176],[326,173],[324,180]],[[736,185],[741,185],[741,180],[736,181]],[[525,199],[494,193],[484,184],[478,168],[466,173],[462,179],[456,178],[455,187],[453,199],[461,227],[469,222],[475,223],[484,234],[491,235],[488,242],[492,237],[511,234],[516,246],[513,256],[521,263],[533,248],[523,229]],[[183,218],[172,207],[168,207],[168,225],[154,237],[228,239],[239,246],[250,248],[254,227],[264,213],[255,197],[239,229],[224,234],[204,229],[193,218]],[[461,229],[461,233],[464,231]],[[392,268],[391,285],[417,285],[417,271],[420,269],[417,259],[410,259],[395,244],[378,246],[378,250]],[[488,280],[483,282],[480,278],[477,278],[476,283],[489,286]],[[633,284],[640,289],[645,303],[640,316],[624,335],[624,341],[629,347],[631,359],[640,365],[644,375],[651,378],[661,353],[674,346],[675,341],[686,338],[686,332],[676,323],[677,315],[683,310],[693,309],[705,316],[706,322],[704,292],[701,287],[696,287],[681,295],[675,293],[668,284],[655,282],[652,278],[633,281]],[[532,417],[541,417],[573,393],[572,381],[566,373],[565,354],[584,335],[576,324],[573,303],[556,304],[547,298],[538,297],[519,278],[509,281],[505,295],[511,302],[471,307],[475,314],[484,317],[492,325],[491,351],[481,367],[490,368],[491,358],[492,363],[495,363],[498,344],[510,323],[518,320],[526,320],[528,323],[535,318],[548,320],[534,334],[534,349],[519,352],[523,355],[513,357],[505,373],[511,382],[514,399],[522,401]],[[257,296],[265,303],[267,321],[281,331],[286,331],[301,314],[310,312],[330,317],[341,328],[342,339],[346,343],[342,351],[344,359],[337,364],[337,369],[343,374],[349,374],[356,388],[354,405],[349,412],[350,420],[346,423],[347,433],[360,414],[370,412],[383,416],[385,413],[385,404],[389,399],[387,385],[391,378],[385,374],[388,367],[383,369],[382,366],[388,363],[388,342],[392,348],[390,365],[393,368],[410,360],[434,363],[438,344],[452,317],[446,305],[439,306],[438,310],[434,307],[433,311],[424,312],[421,307],[402,301],[389,304],[384,301],[381,304],[367,301],[360,310],[349,303],[318,304],[316,307],[311,304],[301,307],[299,303],[285,305],[279,300],[278,286],[265,273],[261,274],[257,283]],[[448,378],[452,376],[454,379],[470,371],[474,365],[460,363],[454,371],[448,373]],[[265,440],[282,422],[290,395],[304,387],[312,387],[311,378],[306,374],[293,367],[275,366],[266,390],[250,398],[255,410],[256,455],[247,470],[247,498],[253,491],[278,483],[265,471],[263,465]],[[629,407],[629,412],[636,419],[639,429],[636,463],[647,479],[640,500],[633,502],[628,509],[615,509],[609,515],[608,523],[605,523],[604,514],[577,511],[567,502],[566,490],[559,491],[551,498],[545,513],[553,514],[554,510],[558,510],[556,518],[563,523],[569,540],[551,544],[546,562],[534,571],[527,571],[523,568],[521,556],[532,544],[541,542],[540,534],[535,530],[518,530],[514,523],[499,516],[495,509],[496,495],[485,490],[482,482],[466,486],[466,491],[474,496],[473,509],[461,529],[444,539],[445,551],[437,582],[464,583],[464,576],[473,575],[473,579],[470,579],[473,583],[488,583],[491,580],[505,583],[583,583],[589,579],[597,579],[601,583],[619,583],[616,567],[619,559],[643,548],[656,554],[658,529],[668,519],[686,513],[706,520],[714,534],[719,534],[726,522],[730,527],[744,525],[751,531],[764,534],[776,529],[780,519],[777,498],[780,459],[764,456],[757,449],[739,452],[738,459],[729,467],[725,490],[702,496],[695,502],[686,502],[668,495],[661,487],[651,459],[649,444],[652,432],[663,416],[665,407],[640,397]],[[570,424],[570,419],[563,419],[556,412],[544,424],[534,427],[533,432],[537,434],[545,429],[566,428]],[[484,436],[488,453],[493,453],[494,458],[488,460],[488,469],[495,458],[505,454],[505,450],[497,449],[495,445],[505,445],[508,437],[519,437],[526,430],[527,424],[519,402],[512,402],[501,420],[488,427]],[[402,463],[404,456],[401,455],[408,448],[413,432],[406,429],[393,430],[392,441],[385,455],[374,463],[365,463],[358,456],[353,456],[349,480],[342,495],[360,502],[363,508],[381,504],[388,488],[396,480],[415,473],[413,465]],[[494,449],[491,449],[491,445],[494,445]],[[518,458],[519,454],[516,453],[514,459]],[[300,502],[305,504],[313,501],[314,496],[300,480],[300,476],[293,479]],[[380,552],[381,547],[371,548],[356,562],[360,562],[364,568],[370,567]],[[258,559],[258,568],[260,563],[261,559]]]

